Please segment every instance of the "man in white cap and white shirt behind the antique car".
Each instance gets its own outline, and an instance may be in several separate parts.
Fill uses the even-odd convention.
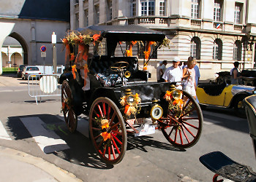
[[[181,60],[176,57],[173,59],[173,66],[170,66],[165,70],[165,73],[162,76],[162,79],[165,79],[165,82],[176,82],[176,88],[182,89],[181,87],[181,78],[182,78],[182,69],[179,65]]]

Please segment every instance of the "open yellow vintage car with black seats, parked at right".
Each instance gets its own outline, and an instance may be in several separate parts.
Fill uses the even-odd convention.
[[[219,74],[217,82],[198,84],[197,98],[200,106],[234,108],[236,116],[246,118],[242,101],[247,96],[256,94],[255,87],[230,84],[229,72],[217,74]]]

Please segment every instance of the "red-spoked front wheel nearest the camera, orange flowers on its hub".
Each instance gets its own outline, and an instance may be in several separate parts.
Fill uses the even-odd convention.
[[[127,130],[123,116],[112,100],[94,100],[89,114],[89,130],[99,157],[110,165],[121,162],[127,150]]]

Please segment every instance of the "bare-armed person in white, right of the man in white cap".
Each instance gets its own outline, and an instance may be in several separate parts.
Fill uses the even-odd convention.
[[[187,66],[184,67],[183,69],[183,76],[182,79],[184,79],[184,84],[183,84],[183,90],[188,92],[190,95],[192,95],[195,99],[197,99],[196,95],[196,82],[195,82],[195,67],[196,61],[193,59],[189,59],[187,61]]]

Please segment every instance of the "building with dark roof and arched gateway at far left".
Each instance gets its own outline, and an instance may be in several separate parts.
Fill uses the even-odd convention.
[[[14,64],[52,65],[53,32],[57,35],[57,64],[64,64],[61,39],[69,30],[69,4],[69,0],[0,1],[0,74],[3,66]],[[18,41],[21,51],[4,44],[8,37]],[[42,45],[47,48],[46,57],[41,57]]]

